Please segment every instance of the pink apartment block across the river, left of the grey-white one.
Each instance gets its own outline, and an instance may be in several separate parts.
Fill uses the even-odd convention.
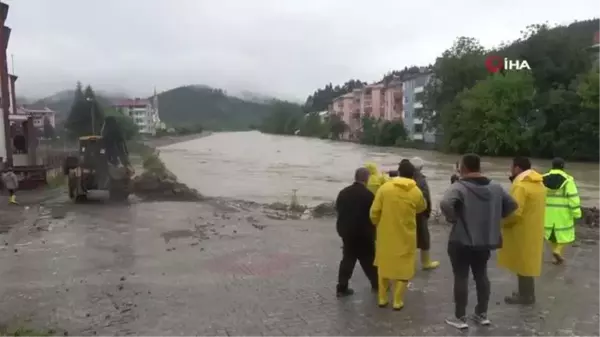
[[[371,84],[336,97],[329,110],[348,125],[345,138],[352,139],[361,128],[364,116],[392,121],[402,118],[402,83]]]

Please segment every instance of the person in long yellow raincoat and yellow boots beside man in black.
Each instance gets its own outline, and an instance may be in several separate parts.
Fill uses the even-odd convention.
[[[375,262],[378,270],[378,304],[388,305],[390,281],[394,281],[393,308],[404,307],[408,281],[415,275],[417,252],[417,213],[425,211],[427,202],[412,179],[415,169],[402,163],[399,177],[383,184],[371,206],[371,222],[376,226]]]

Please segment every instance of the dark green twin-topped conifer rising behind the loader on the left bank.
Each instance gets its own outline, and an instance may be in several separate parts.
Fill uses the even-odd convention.
[[[99,134],[103,121],[104,112],[96,100],[94,90],[89,85],[82,90],[82,85],[78,82],[71,111],[65,123],[70,137]]]

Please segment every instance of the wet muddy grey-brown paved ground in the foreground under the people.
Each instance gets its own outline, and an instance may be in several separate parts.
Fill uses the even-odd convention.
[[[20,222],[0,237],[0,323],[70,336],[599,336],[594,242],[571,248],[565,266],[545,264],[531,308],[500,302],[516,281],[492,267],[494,325],[460,333],[443,323],[453,309],[445,228],[432,233],[442,267],[419,272],[405,310],[393,312],[376,307],[358,268],[357,294],[335,298],[333,220],[273,220],[242,208],[74,206],[64,195],[29,209],[2,205]]]

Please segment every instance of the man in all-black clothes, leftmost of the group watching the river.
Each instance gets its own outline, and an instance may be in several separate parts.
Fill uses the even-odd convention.
[[[342,238],[342,261],[336,287],[337,297],[354,294],[348,287],[356,261],[360,263],[365,275],[371,282],[373,291],[377,291],[377,269],[375,260],[375,226],[371,223],[369,212],[375,196],[367,189],[369,170],[359,168],[354,174],[354,183],[340,191],[335,202],[337,211],[336,228]]]

